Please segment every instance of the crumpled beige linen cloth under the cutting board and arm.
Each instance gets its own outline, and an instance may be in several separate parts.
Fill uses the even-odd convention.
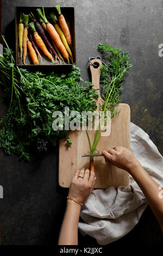
[[[163,187],[163,157],[145,131],[130,124],[130,150],[152,178]],[[135,227],[147,200],[140,187],[130,176],[130,185],[97,189],[96,197],[91,193],[80,212],[82,235],[94,237],[99,245],[114,242]]]

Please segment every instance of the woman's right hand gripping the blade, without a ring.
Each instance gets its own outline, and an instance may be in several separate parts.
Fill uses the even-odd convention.
[[[108,152],[103,150],[102,152],[105,161],[114,164],[118,168],[127,170],[130,173],[130,169],[134,166],[141,166],[140,162],[136,159],[133,153],[124,147],[114,147],[108,149]]]

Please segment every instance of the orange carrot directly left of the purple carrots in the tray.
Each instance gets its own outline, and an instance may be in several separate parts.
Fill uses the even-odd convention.
[[[29,27],[32,29],[33,31],[33,38],[36,42],[36,44],[39,46],[39,48],[42,50],[42,52],[51,60],[53,60],[53,57],[52,57],[52,54],[49,53],[49,51],[47,50],[46,48],[46,45],[44,44],[41,36],[39,35],[39,33],[36,32],[36,29],[35,29],[35,25],[34,25],[34,22],[30,22],[29,23]],[[54,61],[54,60],[53,60]]]

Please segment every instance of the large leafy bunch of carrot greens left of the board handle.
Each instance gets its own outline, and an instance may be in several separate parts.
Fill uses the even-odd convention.
[[[1,100],[7,111],[0,121],[0,147],[5,153],[17,154],[25,160],[30,160],[32,149],[40,149],[40,141],[45,150],[46,143],[52,147],[61,138],[71,147],[66,130],[53,130],[52,114],[64,114],[68,106],[70,113],[80,113],[82,125],[82,111],[96,109],[96,90],[91,89],[90,82],[83,81],[76,66],[60,75],[18,68],[4,37],[3,40],[7,48],[4,56],[0,55],[0,84]]]

